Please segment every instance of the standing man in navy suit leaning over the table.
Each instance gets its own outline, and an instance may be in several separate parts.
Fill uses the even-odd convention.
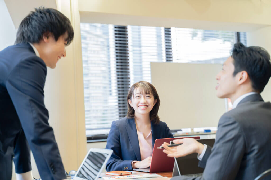
[[[43,180],[66,179],[49,114],[44,106],[46,66],[55,68],[72,42],[69,19],[37,8],[25,17],[15,45],[0,51],[0,179],[32,179],[30,149]]]

